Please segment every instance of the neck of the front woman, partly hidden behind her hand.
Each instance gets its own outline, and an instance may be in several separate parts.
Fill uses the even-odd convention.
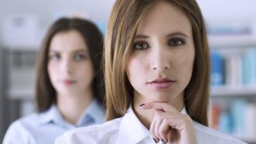
[[[141,123],[150,129],[151,122],[155,116],[154,109],[142,109],[140,108],[141,104],[145,104],[147,102],[152,102],[152,100],[145,100],[141,95],[134,95],[134,102],[132,104],[132,108],[134,109],[134,113],[140,119]],[[178,111],[181,111],[184,108],[184,97],[183,93],[177,96],[174,100],[170,100],[168,102]]]

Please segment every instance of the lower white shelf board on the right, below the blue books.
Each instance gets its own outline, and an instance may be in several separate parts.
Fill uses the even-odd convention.
[[[214,86],[211,88],[211,97],[256,97],[256,87]]]

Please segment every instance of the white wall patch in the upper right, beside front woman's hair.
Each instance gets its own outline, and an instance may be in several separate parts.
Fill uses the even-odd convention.
[[[255,0],[196,0],[209,22],[246,22],[256,20]]]

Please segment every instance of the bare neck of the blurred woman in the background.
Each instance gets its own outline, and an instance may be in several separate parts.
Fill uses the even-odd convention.
[[[92,91],[77,95],[57,95],[57,108],[61,116],[72,125],[76,125],[80,116],[83,114],[93,100]]]

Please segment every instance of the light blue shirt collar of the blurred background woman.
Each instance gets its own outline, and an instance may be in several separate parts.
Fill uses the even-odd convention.
[[[76,126],[69,124],[62,118],[60,111],[55,104],[52,104],[51,108],[48,111],[45,111],[44,113],[40,113],[38,115],[38,124],[49,124],[51,122],[54,122],[55,124],[66,125],[68,127],[81,127],[90,124],[100,124],[104,122],[105,117],[102,106],[95,99],[93,99],[88,108],[84,110],[84,113],[77,121]]]

